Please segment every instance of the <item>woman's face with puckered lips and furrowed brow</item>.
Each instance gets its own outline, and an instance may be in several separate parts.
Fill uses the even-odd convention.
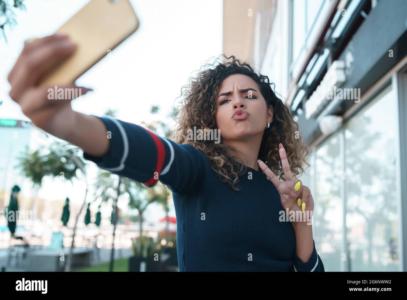
[[[273,120],[273,107],[267,109],[256,82],[243,74],[223,79],[216,105],[216,124],[224,141],[243,141],[256,135],[261,140],[267,123]]]

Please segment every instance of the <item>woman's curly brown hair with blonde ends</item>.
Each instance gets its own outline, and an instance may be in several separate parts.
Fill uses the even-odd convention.
[[[224,58],[224,59],[223,59]],[[231,61],[227,61],[230,60]],[[221,60],[219,62],[219,60]],[[207,68],[207,67],[214,68]],[[202,69],[202,68],[201,68]],[[307,163],[309,149],[304,145],[300,135],[298,123],[294,115],[274,91],[274,83],[269,82],[269,77],[258,75],[247,62],[241,62],[234,55],[227,57],[221,54],[212,64],[207,63],[203,70],[199,70],[196,77],[190,77],[189,83],[181,88],[181,108],[175,111],[176,129],[173,130],[171,140],[178,144],[190,144],[204,152],[210,159],[212,169],[219,175],[223,182],[227,182],[234,190],[240,190],[239,175],[247,170],[245,163],[239,163],[237,152],[233,146],[223,143],[214,143],[208,140],[190,140],[187,138],[188,129],[194,128],[208,130],[217,129],[216,124],[216,95],[223,79],[232,74],[243,74],[251,77],[258,84],[267,108],[273,106],[274,117],[270,127],[265,129],[258,153],[261,159],[280,179],[284,178],[282,171],[279,143],[282,143],[290,164],[293,178],[304,172],[303,165]],[[273,87],[272,87],[273,86]],[[178,115],[178,117],[177,117]]]

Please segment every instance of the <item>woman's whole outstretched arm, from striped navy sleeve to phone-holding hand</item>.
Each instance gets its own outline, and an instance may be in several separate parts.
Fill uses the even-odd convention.
[[[40,86],[75,51],[67,36],[50,35],[26,42],[7,79],[9,95],[33,124],[84,151],[84,157],[101,168],[152,186],[158,179],[174,192],[193,189],[201,176],[199,150],[158,137],[141,126],[117,119],[99,118],[72,110],[74,95],[90,89],[73,83],[59,90],[79,89],[68,99],[49,97],[54,86]],[[64,94],[66,95],[66,94]],[[55,96],[55,95],[54,95]]]

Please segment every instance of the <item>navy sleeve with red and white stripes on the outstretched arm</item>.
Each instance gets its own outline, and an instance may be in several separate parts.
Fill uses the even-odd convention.
[[[173,192],[199,190],[202,155],[191,145],[179,145],[150,130],[109,117],[98,117],[109,148],[103,157],[86,151],[83,157],[100,168],[153,186],[158,180]]]

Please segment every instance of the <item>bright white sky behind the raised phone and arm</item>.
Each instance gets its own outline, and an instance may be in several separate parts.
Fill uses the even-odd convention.
[[[7,82],[24,40],[52,34],[87,2],[26,0],[26,11],[15,11],[17,26],[6,31],[7,43],[0,38],[0,118],[27,120],[18,104],[9,99]],[[77,80],[78,85],[94,91],[74,101],[74,110],[103,115],[112,108],[118,110],[119,119],[135,124],[165,119],[177,105],[175,99],[188,77],[195,75],[211,57],[221,54],[222,1],[156,0],[131,4],[140,21],[138,30]],[[149,114],[152,105],[160,106],[158,115]],[[168,121],[169,125],[174,124]],[[66,185],[47,180],[43,186],[40,196],[46,199],[83,199],[81,182],[74,183],[69,195],[64,193],[61,197],[57,195]]]

